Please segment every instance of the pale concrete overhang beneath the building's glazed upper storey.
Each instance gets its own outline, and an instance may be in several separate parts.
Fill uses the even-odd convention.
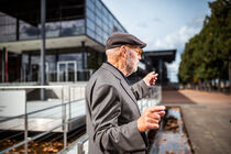
[[[87,35],[46,38],[45,46],[46,50],[79,47],[81,46],[81,42],[85,42],[85,46],[92,47],[98,52],[105,52],[103,45],[99,44]],[[23,51],[41,50],[41,40],[1,42],[0,48],[2,50],[6,47],[7,51],[21,54]]]

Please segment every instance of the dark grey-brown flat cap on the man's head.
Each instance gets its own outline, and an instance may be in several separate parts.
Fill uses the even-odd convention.
[[[146,46],[146,43],[140,41],[138,37],[135,37],[132,34],[114,32],[108,37],[106,42],[106,51],[127,44],[139,46],[141,48]]]

